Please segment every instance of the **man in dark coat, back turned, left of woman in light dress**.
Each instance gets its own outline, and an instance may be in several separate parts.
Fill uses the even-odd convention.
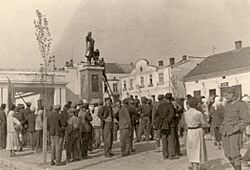
[[[172,142],[172,127],[174,117],[174,106],[171,103],[172,94],[167,93],[166,100],[159,104],[156,111],[157,126],[161,130],[162,136],[162,154],[164,159],[173,159],[174,143]]]

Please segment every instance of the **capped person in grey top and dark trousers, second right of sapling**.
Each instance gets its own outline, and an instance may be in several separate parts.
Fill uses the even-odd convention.
[[[72,161],[78,159],[79,118],[75,115],[74,108],[68,109],[67,112],[69,120],[66,129],[66,162],[69,162],[71,160],[71,155],[73,158]]]

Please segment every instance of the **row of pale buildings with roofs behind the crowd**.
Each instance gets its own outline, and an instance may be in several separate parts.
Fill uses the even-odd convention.
[[[147,59],[135,64],[106,63],[110,88],[102,81],[91,86],[99,88],[101,98],[109,96],[109,89],[121,99],[130,96],[157,99],[159,94],[167,92],[178,98],[186,94],[209,97],[223,95],[229,86],[239,96],[250,94],[250,47],[243,48],[241,41],[236,41],[235,49],[227,52],[208,57],[184,55],[176,60],[158,61],[157,66]],[[49,72],[47,102],[64,105],[69,100],[84,99],[83,91],[90,86],[83,79],[84,67],[83,63],[71,63],[61,71]],[[0,69],[0,103],[12,99],[15,103],[31,101],[37,106],[44,97],[43,85],[40,70]]]

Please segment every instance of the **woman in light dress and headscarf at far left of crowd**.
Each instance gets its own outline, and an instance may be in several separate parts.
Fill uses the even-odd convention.
[[[7,117],[7,142],[6,149],[10,151],[10,156],[15,156],[15,151],[19,149],[18,129],[22,129],[22,124],[14,117],[15,105],[12,105]]]

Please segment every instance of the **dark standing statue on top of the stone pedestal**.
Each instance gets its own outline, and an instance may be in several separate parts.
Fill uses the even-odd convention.
[[[89,32],[86,36],[86,53],[87,63],[91,64],[91,59],[94,58],[94,45],[95,40],[92,38],[92,33]]]

